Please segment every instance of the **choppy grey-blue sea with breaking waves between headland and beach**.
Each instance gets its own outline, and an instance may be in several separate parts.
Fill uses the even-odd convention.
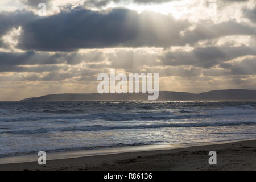
[[[256,138],[256,101],[0,102],[0,158]]]

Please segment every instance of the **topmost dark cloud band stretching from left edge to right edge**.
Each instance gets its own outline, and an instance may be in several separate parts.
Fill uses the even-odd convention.
[[[246,11],[252,17],[253,10]],[[0,13],[0,37],[11,28],[22,26],[19,48],[40,51],[73,51],[79,48],[170,47],[195,44],[200,40],[226,35],[255,35],[255,28],[234,21],[213,24],[200,22],[186,30],[187,21],[171,16],[127,9],[109,13],[73,9],[40,18],[31,12]],[[77,18],[79,17],[79,18]],[[183,34],[180,32],[183,31]],[[4,44],[0,42],[0,46]]]

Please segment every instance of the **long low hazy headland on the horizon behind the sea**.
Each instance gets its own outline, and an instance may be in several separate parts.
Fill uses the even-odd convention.
[[[26,98],[21,101],[126,101],[147,100],[148,94],[51,94]],[[160,91],[158,100],[256,100],[256,90],[213,90],[199,94],[188,92]]]

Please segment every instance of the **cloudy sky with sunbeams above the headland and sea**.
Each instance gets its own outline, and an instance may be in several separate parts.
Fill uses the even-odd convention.
[[[40,16],[45,3],[46,16]],[[256,89],[256,0],[1,0],[0,101],[97,93],[97,75],[159,89]]]

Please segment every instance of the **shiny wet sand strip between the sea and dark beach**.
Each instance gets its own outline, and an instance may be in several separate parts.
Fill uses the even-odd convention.
[[[47,160],[59,160],[59,159],[71,159],[71,158],[81,158],[86,156],[110,155],[110,154],[120,154],[120,153],[129,153],[129,152],[173,150],[173,149],[189,148],[194,146],[208,146],[213,144],[242,142],[246,140],[256,140],[256,138],[246,138],[246,139],[238,139],[238,140],[221,140],[217,142],[181,143],[181,144],[145,144],[145,145],[138,145],[138,146],[136,145],[136,146],[122,146],[122,147],[105,147],[105,148],[86,149],[86,150],[46,152],[46,154],[47,154]],[[38,160],[38,158],[39,156],[36,154],[5,156],[0,158],[0,165],[11,164],[11,163],[35,162]]]

